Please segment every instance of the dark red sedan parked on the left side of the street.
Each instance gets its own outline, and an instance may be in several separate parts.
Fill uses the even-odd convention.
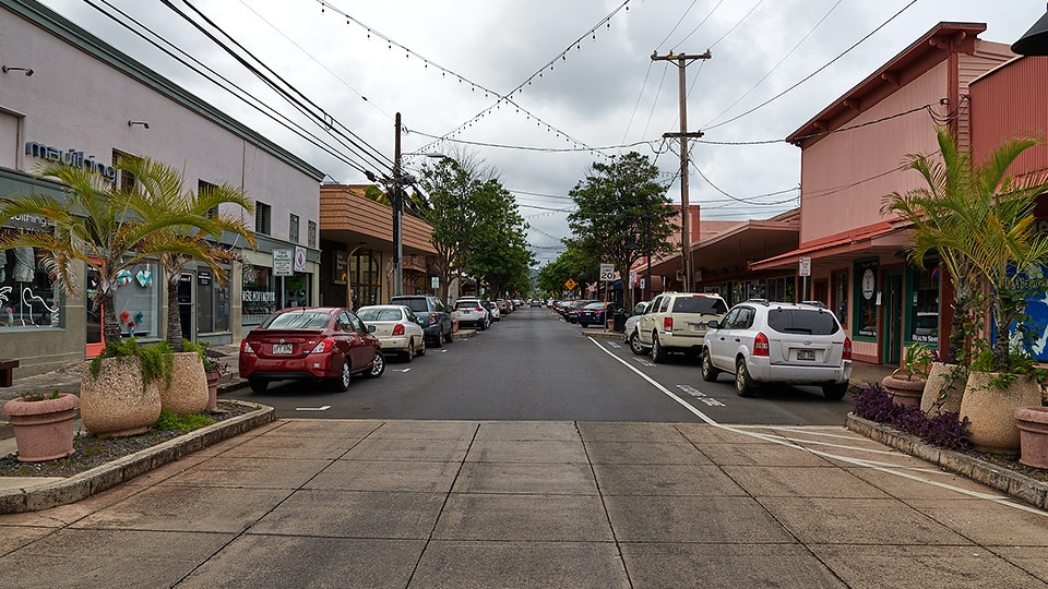
[[[282,309],[240,342],[240,377],[255,393],[286,380],[330,382],[344,392],[353,375],[377,378],[385,371],[373,330],[348,309]]]

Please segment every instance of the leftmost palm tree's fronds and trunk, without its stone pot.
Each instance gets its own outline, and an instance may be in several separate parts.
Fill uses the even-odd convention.
[[[128,163],[116,166],[124,169]],[[156,251],[141,244],[153,233],[174,226],[202,226],[206,219],[180,209],[152,207],[134,190],[120,190],[100,175],[59,163],[43,165],[38,177],[56,178],[66,185],[66,199],[46,194],[0,199],[0,225],[17,215],[36,215],[53,224],[52,232],[19,231],[0,237],[0,250],[38,248],[51,280],[67,294],[79,289],[80,263],[98,275],[95,311],[103,310],[103,336],[119,341],[120,323],[114,305],[118,273],[144,263]],[[168,251],[192,255],[191,244],[168,242]]]

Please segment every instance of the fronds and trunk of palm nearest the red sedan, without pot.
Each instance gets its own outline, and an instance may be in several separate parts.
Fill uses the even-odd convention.
[[[228,280],[226,264],[243,262],[233,248],[218,244],[223,231],[229,231],[254,247],[254,233],[239,215],[218,211],[218,205],[236,205],[248,213],[254,204],[243,190],[231,184],[207,187],[203,190],[184,190],[184,178],[175,168],[148,158],[124,164],[124,169],[134,175],[141,199],[139,213],[151,218],[166,211],[178,212],[198,219],[192,224],[169,225],[143,239],[143,253],[154,255],[167,278],[167,341],[175,351],[182,351],[182,324],[178,310],[178,281],[182,268],[193,260],[202,262],[212,271],[215,284]]]

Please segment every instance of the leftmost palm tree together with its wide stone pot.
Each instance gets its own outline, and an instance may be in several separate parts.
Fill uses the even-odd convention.
[[[132,160],[116,165],[118,170],[128,169]],[[207,219],[181,208],[165,207],[150,202],[135,183],[118,188],[99,175],[72,166],[48,163],[37,172],[39,177],[56,178],[66,187],[64,199],[47,194],[28,194],[0,199],[0,225],[16,215],[37,215],[52,224],[52,230],[15,231],[0,238],[0,250],[32,247],[49,253],[45,260],[51,279],[67,296],[79,291],[79,276],[83,267],[92,268],[98,277],[95,311],[100,306],[103,337],[107,345],[120,341],[120,323],[114,304],[114,293],[120,286],[120,274],[130,272],[138,264],[155,256],[159,247],[151,251],[141,249],[148,238],[160,230],[178,226],[207,228]],[[172,252],[192,254],[191,244],[175,240],[166,241],[164,248]],[[134,356],[134,354],[132,354]],[[114,374],[133,372],[141,375],[141,358],[121,356],[105,359],[102,364],[118,363]],[[100,365],[95,374],[108,369]],[[85,371],[81,385],[81,417],[84,425],[95,433],[93,426],[104,428],[114,434],[136,432],[141,425],[122,423],[123,411],[134,412],[140,406],[151,406],[150,387],[142,378],[138,386],[117,390],[108,378],[98,378]],[[139,393],[136,393],[139,392]],[[140,395],[146,395],[140,397]],[[116,402],[99,402],[117,398]],[[158,399],[156,400],[158,404]],[[157,414],[159,407],[157,405]],[[102,414],[105,413],[105,414]],[[151,411],[152,413],[152,411]],[[156,419],[155,417],[153,418]],[[94,425],[92,425],[94,424]],[[104,424],[104,425],[102,425]],[[147,425],[146,425],[147,426]]]

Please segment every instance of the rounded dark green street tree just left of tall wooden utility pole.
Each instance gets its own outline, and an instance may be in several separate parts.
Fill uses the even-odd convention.
[[[575,243],[598,263],[610,261],[623,284],[629,284],[630,267],[638,260],[670,249],[667,238],[677,211],[657,178],[658,168],[646,156],[630,152],[610,164],[592,164],[586,178],[569,193],[577,207],[568,216]],[[635,248],[638,243],[642,248]],[[632,293],[628,288],[623,292],[626,306],[632,308]]]

